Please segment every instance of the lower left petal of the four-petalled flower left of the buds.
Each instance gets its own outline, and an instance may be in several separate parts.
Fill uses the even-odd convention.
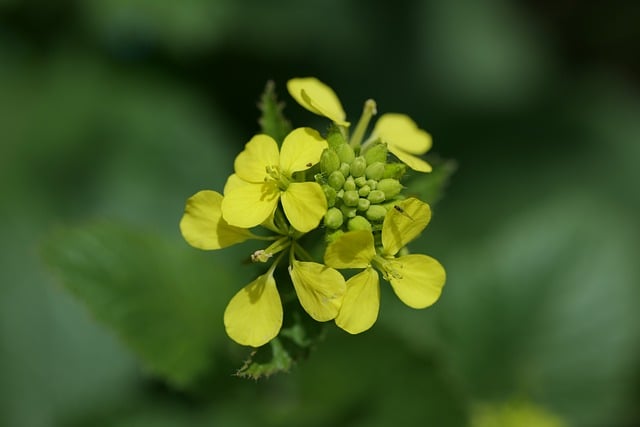
[[[234,188],[222,200],[222,217],[236,227],[255,227],[269,218],[279,197],[280,190],[273,181]]]

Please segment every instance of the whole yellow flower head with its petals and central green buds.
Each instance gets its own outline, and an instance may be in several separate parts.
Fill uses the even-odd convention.
[[[380,274],[413,308],[432,305],[445,282],[438,261],[405,248],[431,218],[429,205],[407,198],[401,184],[407,168],[431,171],[419,157],[431,148],[429,134],[405,115],[384,114],[365,139],[376,114],[372,100],[351,132],[330,87],[315,78],[296,78],[287,89],[302,107],[332,122],[327,134],[300,127],[280,146],[272,136],[254,136],[236,157],[224,195],[196,193],[180,222],[185,240],[199,249],[268,242],[251,255],[254,262],[271,263],[267,271],[242,288],[224,313],[227,334],[252,347],[268,343],[282,327],[281,287],[274,273],[283,259],[308,315],[318,322],[335,320],[352,334],[377,319]],[[301,240],[317,229],[326,236],[323,263],[303,247],[308,239]],[[345,280],[339,269],[361,271]]]

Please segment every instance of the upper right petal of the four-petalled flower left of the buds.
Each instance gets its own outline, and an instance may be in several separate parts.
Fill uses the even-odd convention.
[[[294,129],[286,136],[280,150],[280,170],[288,176],[309,169],[320,161],[327,141],[311,128]]]

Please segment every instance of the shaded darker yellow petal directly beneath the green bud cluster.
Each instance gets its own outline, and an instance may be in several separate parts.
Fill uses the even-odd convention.
[[[331,242],[324,253],[324,262],[334,268],[365,268],[374,256],[373,235],[367,230],[357,230]]]

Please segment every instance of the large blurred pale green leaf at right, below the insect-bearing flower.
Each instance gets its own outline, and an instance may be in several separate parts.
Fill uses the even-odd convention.
[[[523,396],[574,425],[612,425],[640,350],[638,227],[580,190],[558,194],[486,241],[452,242],[440,301],[393,304],[384,323],[441,352],[476,399]]]

